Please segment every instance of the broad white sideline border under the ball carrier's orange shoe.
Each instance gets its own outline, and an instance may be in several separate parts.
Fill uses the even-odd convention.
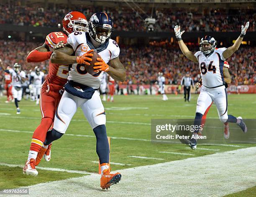
[[[31,196],[84,197],[86,194],[113,197],[118,194],[123,197],[222,197],[255,186],[255,152],[256,147],[250,147],[123,169],[119,171],[122,174],[120,183],[111,186],[108,191],[100,189],[100,175],[97,174],[36,184],[28,188]],[[156,177],[161,179],[156,181]],[[195,185],[198,181],[200,184]]]

